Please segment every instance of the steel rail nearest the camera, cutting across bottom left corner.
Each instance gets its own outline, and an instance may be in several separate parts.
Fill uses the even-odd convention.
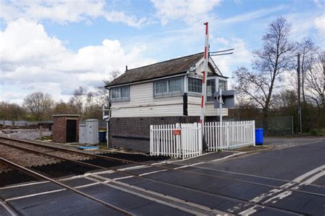
[[[103,204],[104,206],[106,206],[108,208],[112,208],[115,211],[119,211],[119,213],[122,213],[123,215],[134,215],[134,214],[130,213],[129,211],[126,211],[126,210],[124,210],[122,208],[119,208],[118,206],[115,206],[115,205],[110,204],[108,202],[105,202],[103,200],[99,200],[96,197],[93,197],[91,195],[88,195],[88,194],[86,194],[86,193],[84,193],[82,191],[78,191],[77,189],[74,189],[73,187],[69,187],[68,185],[63,184],[61,182],[58,182],[56,180],[53,180],[53,179],[51,179],[51,178],[49,178],[47,176],[43,176],[42,174],[37,173],[36,171],[32,171],[31,169],[27,169],[25,167],[22,167],[21,165],[18,165],[16,163],[13,163],[10,160],[7,160],[7,159],[1,158],[1,157],[0,157],[0,160],[3,161],[4,163],[7,163],[11,167],[14,167],[16,169],[20,169],[21,171],[24,171],[25,173],[29,173],[29,175],[36,176],[38,178],[42,178],[42,179],[48,180],[49,182],[53,182],[54,184],[58,184],[60,187],[63,187],[65,189],[68,189],[69,191],[73,191],[74,193],[77,193],[79,195],[82,195],[82,196],[88,198],[89,200],[93,200],[95,202],[98,202],[99,204]]]

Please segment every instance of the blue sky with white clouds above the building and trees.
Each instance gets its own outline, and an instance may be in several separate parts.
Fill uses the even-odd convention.
[[[284,16],[291,39],[325,47],[325,0],[0,0],[0,101],[23,104],[42,91],[67,101],[110,71],[234,48],[213,60],[223,75],[249,66],[267,25]]]

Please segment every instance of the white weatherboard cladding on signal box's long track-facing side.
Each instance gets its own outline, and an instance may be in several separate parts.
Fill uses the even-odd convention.
[[[154,83],[130,86],[130,101],[112,103],[112,118],[119,117],[171,117],[183,115],[183,97],[154,98]]]

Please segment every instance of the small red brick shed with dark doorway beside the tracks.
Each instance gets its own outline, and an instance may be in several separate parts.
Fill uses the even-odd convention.
[[[80,115],[53,115],[53,141],[56,143],[76,143],[79,133]]]

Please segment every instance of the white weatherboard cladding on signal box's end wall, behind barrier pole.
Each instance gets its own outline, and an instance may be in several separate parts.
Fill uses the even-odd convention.
[[[187,107],[189,116],[200,116],[201,97],[189,96],[187,98]],[[208,117],[219,116],[219,109],[215,109],[213,103],[206,104],[205,115]],[[228,109],[222,109],[222,116],[228,115]]]

